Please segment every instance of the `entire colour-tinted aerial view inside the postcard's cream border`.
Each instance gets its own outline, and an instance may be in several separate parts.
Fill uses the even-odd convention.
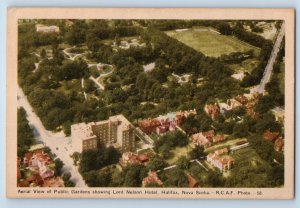
[[[284,80],[281,20],[19,19],[17,186],[282,188]]]

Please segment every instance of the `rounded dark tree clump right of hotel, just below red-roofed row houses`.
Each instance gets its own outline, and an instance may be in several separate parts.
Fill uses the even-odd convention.
[[[154,150],[160,153],[164,158],[170,157],[171,149],[174,147],[184,147],[188,144],[189,139],[186,134],[176,130],[167,132],[162,137],[154,141]]]

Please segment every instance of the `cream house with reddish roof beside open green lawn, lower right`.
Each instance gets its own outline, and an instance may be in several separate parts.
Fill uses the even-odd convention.
[[[206,158],[209,163],[218,168],[221,172],[227,172],[230,170],[235,162],[235,160],[228,155],[227,148],[219,149],[213,153],[209,153]]]

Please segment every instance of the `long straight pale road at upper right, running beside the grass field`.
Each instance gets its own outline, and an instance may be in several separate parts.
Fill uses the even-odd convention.
[[[273,50],[271,52],[271,56],[269,58],[268,64],[265,68],[263,78],[261,79],[261,82],[258,86],[255,86],[254,88],[251,89],[252,93],[254,93],[254,92],[264,93],[265,92],[265,87],[266,87],[266,84],[270,81],[273,66],[274,66],[277,54],[280,50],[280,46],[281,46],[281,42],[282,42],[283,37],[284,37],[284,33],[285,33],[285,24],[283,22],[282,25],[281,25],[281,28],[278,32],[278,35],[277,35],[275,44],[273,46]]]

